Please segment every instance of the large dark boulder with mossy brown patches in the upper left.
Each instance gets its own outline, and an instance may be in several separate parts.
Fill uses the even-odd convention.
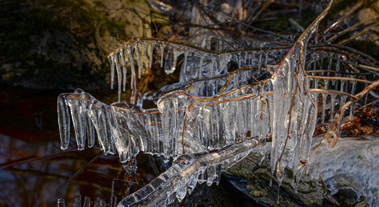
[[[0,8],[0,79],[10,86],[108,88],[106,57],[119,46],[110,36],[151,37],[146,1],[1,1]]]

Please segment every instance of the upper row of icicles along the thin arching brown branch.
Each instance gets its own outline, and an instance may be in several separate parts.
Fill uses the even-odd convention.
[[[267,46],[267,48],[265,48]],[[137,38],[129,43],[123,43],[123,46],[112,52],[108,59],[111,66],[111,84],[113,87],[114,70],[116,70],[117,80],[119,83],[119,100],[121,99],[121,88],[125,90],[127,63],[130,64],[130,83],[132,88],[131,102],[134,103],[138,93],[137,79],[143,74],[144,57],[150,55],[150,68],[152,68],[152,57],[154,51],[158,49],[161,53],[159,58],[161,68],[167,74],[174,72],[177,68],[178,59],[183,59],[181,64],[181,76],[179,83],[192,81],[194,79],[211,78],[217,75],[225,75],[227,73],[228,64],[231,62],[238,63],[238,68],[256,67],[258,72],[260,68],[267,68],[267,65],[276,63],[281,55],[287,52],[288,47],[269,47],[269,43],[254,42],[249,48],[243,49],[228,49],[225,50],[207,50],[198,46],[194,46],[181,41],[154,39],[154,38]],[[142,48],[142,49],[141,49]],[[148,50],[150,48],[150,50]],[[142,51],[142,55],[141,55]],[[150,54],[146,52],[149,51]],[[126,58],[129,57],[129,58]],[[136,67],[134,60],[138,66],[138,76],[136,75]],[[127,62],[129,60],[129,62]],[[218,85],[218,81],[209,80],[205,83],[207,87]],[[204,91],[199,91],[204,92]],[[198,94],[203,96],[215,95]]]

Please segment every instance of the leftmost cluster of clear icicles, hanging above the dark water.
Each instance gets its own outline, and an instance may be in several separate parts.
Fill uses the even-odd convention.
[[[70,113],[79,150],[85,148],[86,142],[88,142],[88,147],[94,146],[96,130],[101,149],[105,154],[114,154],[115,125],[110,107],[81,89],[58,97],[62,149],[67,149],[70,144]]]

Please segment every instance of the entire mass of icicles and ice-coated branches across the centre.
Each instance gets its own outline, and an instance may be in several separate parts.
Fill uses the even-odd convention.
[[[175,197],[181,201],[197,183],[218,183],[223,170],[265,144],[271,145],[269,161],[279,184],[286,167],[299,179],[315,149],[316,123],[336,123],[324,139],[333,147],[340,121],[345,114],[354,114],[354,104],[349,105],[349,112],[341,106],[362,97],[365,89],[354,96],[357,85],[378,86],[378,81],[342,72],[342,64],[354,69],[358,63],[333,52],[307,50],[329,8],[330,4],[291,48],[252,42],[249,49],[232,50],[219,43],[220,50],[208,50],[148,38],[125,43],[108,57],[112,88],[117,77],[119,102],[108,106],[81,89],[59,95],[61,148],[69,146],[71,117],[79,150],[86,144],[94,146],[97,137],[103,152],[117,152],[122,163],[141,151],[162,155],[165,161],[174,158],[172,167],[119,206],[166,206]],[[151,68],[156,50],[167,74],[181,68],[180,81],[143,96],[138,90],[145,70],[143,59],[149,59]],[[178,59],[183,60],[181,64]],[[238,69],[228,71],[231,63]],[[132,96],[130,102],[122,102],[127,70]],[[156,101],[157,108],[144,109],[145,100]]]

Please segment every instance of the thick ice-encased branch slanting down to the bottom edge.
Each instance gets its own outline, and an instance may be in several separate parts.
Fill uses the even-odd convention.
[[[125,197],[118,206],[167,206],[175,197],[181,201],[187,192],[192,193],[197,183],[218,184],[221,172],[245,158],[256,146],[258,141],[249,139],[225,148],[177,157],[168,170]]]

